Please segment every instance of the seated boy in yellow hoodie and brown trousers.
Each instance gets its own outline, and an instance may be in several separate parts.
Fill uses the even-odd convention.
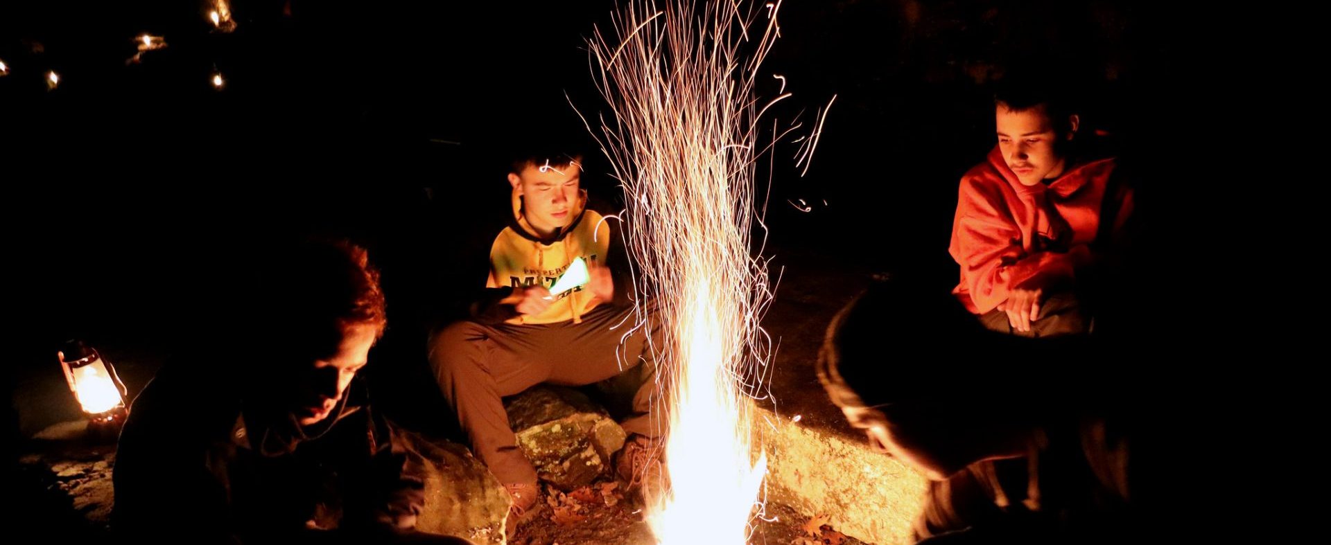
[[[580,177],[576,154],[536,153],[514,161],[512,217],[490,249],[484,295],[471,302],[467,319],[430,339],[430,366],[443,396],[473,452],[504,484],[519,512],[536,501],[536,472],[518,448],[500,397],[540,383],[586,385],[638,375],[640,364],[652,368],[647,328],[634,330],[632,284],[616,280],[606,265],[614,235],[604,218],[587,209]],[[587,283],[551,294],[576,258],[587,263]],[[627,272],[627,266],[616,269]],[[647,412],[654,384],[644,379],[623,427],[652,436]]]

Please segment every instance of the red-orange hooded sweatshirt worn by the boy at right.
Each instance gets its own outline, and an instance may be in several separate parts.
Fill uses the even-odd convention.
[[[1093,242],[1121,243],[1133,194],[1109,183],[1115,165],[1114,158],[1079,162],[1050,183],[1026,186],[994,146],[961,177],[948,253],[961,265],[952,292],[966,310],[989,312],[1036,276],[1044,276],[1042,286],[1075,280],[1078,269],[1099,259]],[[1103,226],[1102,211],[1113,214]]]

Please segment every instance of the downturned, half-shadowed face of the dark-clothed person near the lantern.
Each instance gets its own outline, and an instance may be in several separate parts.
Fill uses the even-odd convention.
[[[357,371],[365,367],[378,328],[373,324],[351,324],[333,339],[337,347],[326,356],[309,356],[295,375],[291,412],[301,425],[322,421],[337,408]],[[326,351],[321,351],[327,354]]]

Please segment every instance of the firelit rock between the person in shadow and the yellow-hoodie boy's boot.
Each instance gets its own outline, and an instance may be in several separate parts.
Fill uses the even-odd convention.
[[[490,469],[457,443],[407,437],[426,468],[425,512],[417,529],[502,545],[508,493]]]

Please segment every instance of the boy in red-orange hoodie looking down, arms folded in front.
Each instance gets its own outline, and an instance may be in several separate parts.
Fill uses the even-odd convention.
[[[1126,245],[1133,193],[1094,154],[1050,85],[1008,82],[998,145],[961,178],[948,251],[952,292],[985,327],[1022,336],[1089,332],[1090,279]]]

